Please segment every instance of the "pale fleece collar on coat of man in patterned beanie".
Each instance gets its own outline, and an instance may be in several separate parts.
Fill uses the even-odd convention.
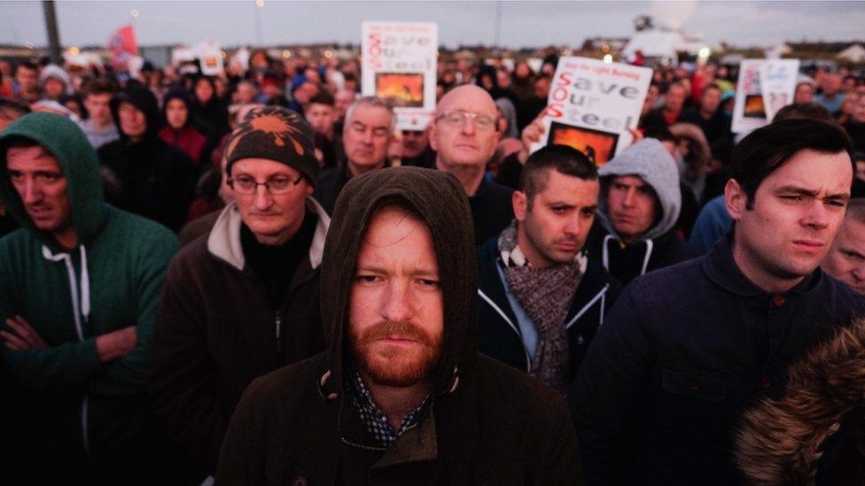
[[[312,197],[307,197],[307,210],[316,212],[318,216],[316,234],[313,235],[312,244],[309,245],[309,263],[313,268],[316,268],[322,263],[324,237],[327,236],[327,228],[331,225],[331,218],[321,204],[318,204]],[[243,245],[240,243],[241,223],[243,223],[243,219],[240,217],[238,204],[232,201],[219,214],[214,228],[207,237],[207,251],[239,271],[243,271],[246,263]]]

